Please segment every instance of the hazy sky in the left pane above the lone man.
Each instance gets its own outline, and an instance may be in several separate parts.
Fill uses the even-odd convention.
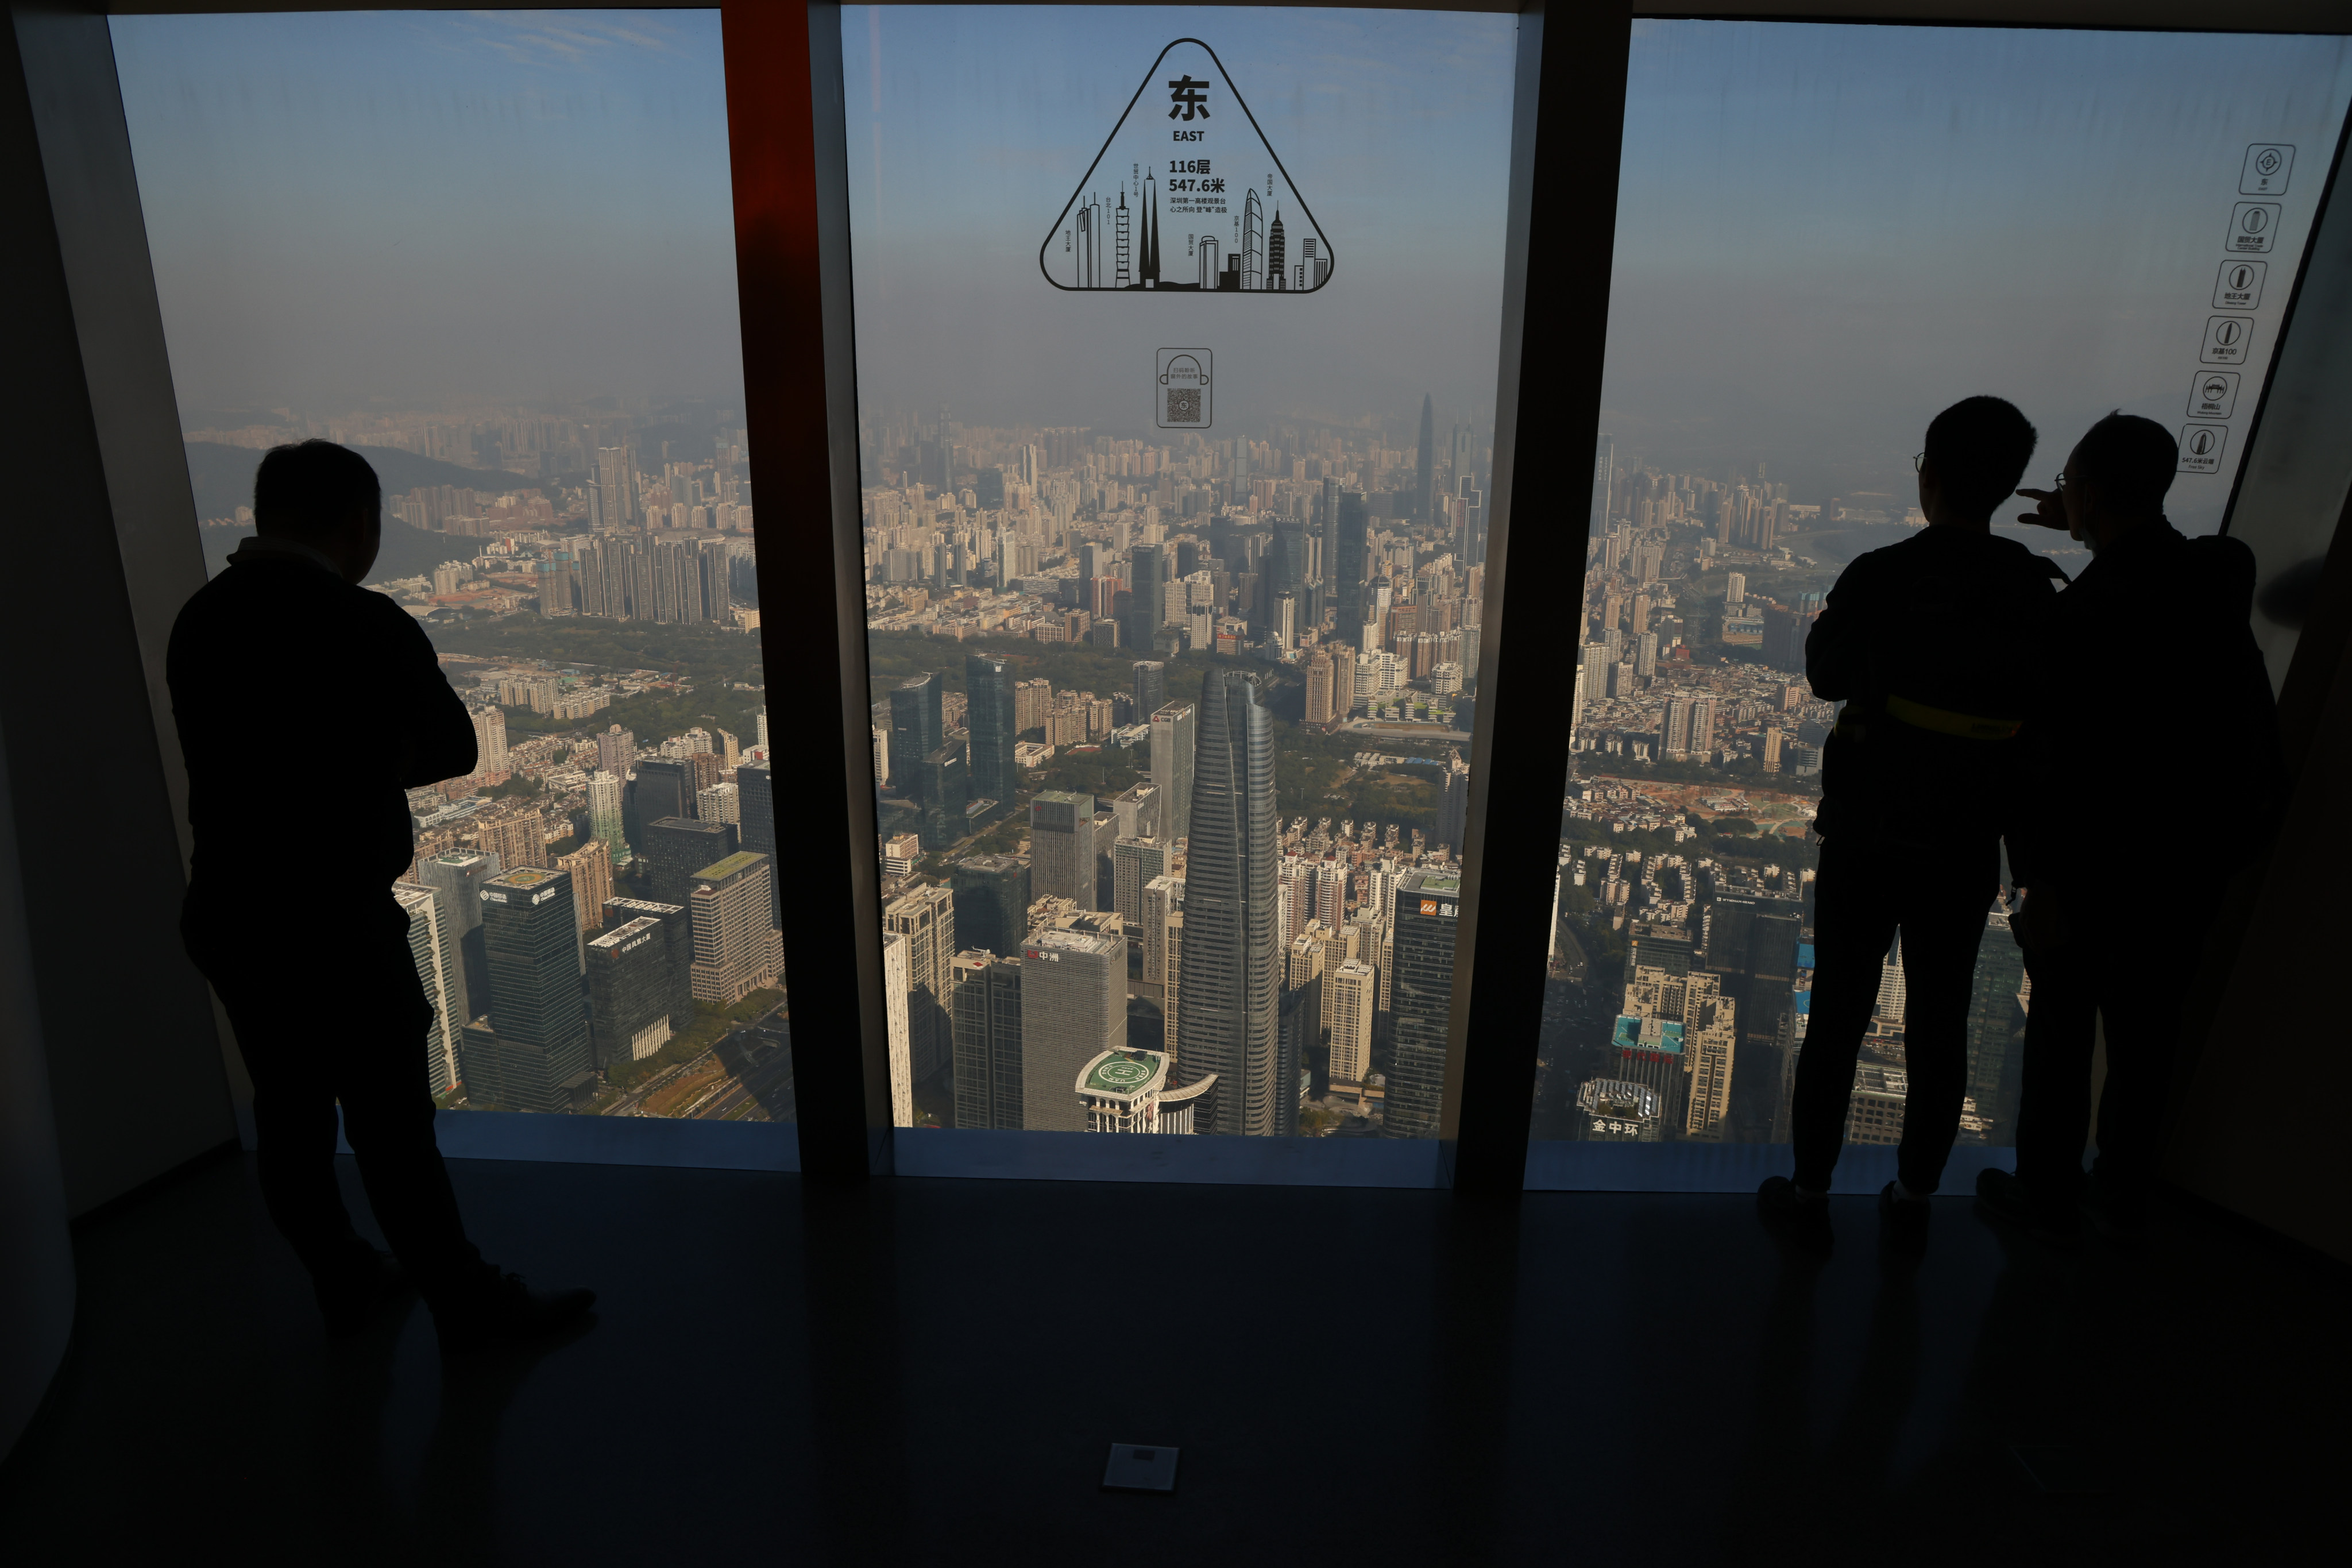
[[[717,12],[111,26],[183,409],[741,395]]]

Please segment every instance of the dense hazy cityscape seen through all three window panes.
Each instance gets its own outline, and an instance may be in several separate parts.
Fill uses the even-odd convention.
[[[412,792],[395,886],[445,1105],[793,1117],[736,421],[188,433],[360,444],[388,475],[386,567],[433,557],[372,585],[433,635],[480,738],[473,776]],[[1435,1135],[1486,461],[1430,400],[1397,442],[868,421],[898,1126]],[[1919,522],[1893,494],[1792,503],[1762,468],[1670,473],[1602,437],[1559,658],[1538,1138],[1788,1138],[1835,722],[1804,632],[1842,552]],[[1992,1143],[2027,1004],[2002,922],[1964,1119]],[[1893,1140],[1900,1103],[1896,950],[1851,1138]]]

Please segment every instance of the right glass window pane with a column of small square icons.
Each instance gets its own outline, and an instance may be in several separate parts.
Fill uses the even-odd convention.
[[[2110,409],[2164,423],[2166,512],[2220,529],[2347,87],[2340,38],[1635,24],[1534,1185],[1790,1140],[1823,595],[1926,527],[1915,454],[1978,393],[2039,428],[2027,487]],[[1994,534],[2089,564],[2023,510]],[[2030,994],[1985,926],[1955,1171],[2016,1135]],[[1849,1143],[1905,1086],[1896,940]]]

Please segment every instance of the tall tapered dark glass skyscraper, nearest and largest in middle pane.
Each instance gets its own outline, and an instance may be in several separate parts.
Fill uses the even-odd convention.
[[[1275,1131],[1275,738],[1258,682],[1211,670],[1202,682],[1185,870],[1183,1084],[1218,1074],[1200,1131]],[[1073,1067],[1075,1070],[1075,1067]]]

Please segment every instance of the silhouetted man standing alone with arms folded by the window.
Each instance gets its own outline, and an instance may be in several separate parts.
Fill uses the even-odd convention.
[[[400,1272],[350,1227],[336,1100],[367,1201],[445,1349],[546,1333],[588,1291],[482,1262],[433,1143],[426,1001],[393,882],[414,858],[405,790],[475,766],[473,722],[393,599],[358,588],[383,536],[376,470],[332,442],[278,447],[254,529],[179,611],[167,677],[188,759],[195,865],[181,912],[254,1079],[261,1194],[334,1335]]]

